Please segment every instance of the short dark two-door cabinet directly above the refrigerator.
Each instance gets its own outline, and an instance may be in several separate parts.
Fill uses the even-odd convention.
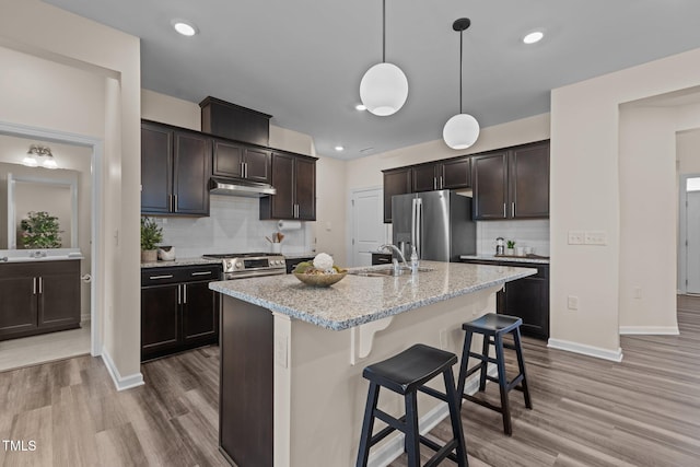
[[[471,185],[469,157],[448,159],[412,167],[412,191],[459,189]]]

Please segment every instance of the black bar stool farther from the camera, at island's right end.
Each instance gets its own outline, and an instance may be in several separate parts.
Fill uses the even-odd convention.
[[[533,408],[533,402],[529,399],[529,390],[527,389],[525,362],[523,361],[523,348],[521,346],[522,324],[523,320],[515,316],[488,313],[480,318],[462,325],[462,329],[466,330],[467,332],[464,338],[464,349],[462,351],[459,380],[457,385],[457,393],[462,396],[459,399],[459,407],[462,408],[462,399],[467,399],[480,406],[500,412],[503,417],[503,432],[509,436],[513,433],[513,427],[511,425],[511,409],[508,400],[508,393],[513,388],[523,392],[523,396],[525,397],[525,407],[527,407],[528,409]],[[471,336],[475,332],[483,336],[483,346],[481,353],[471,351]],[[503,336],[506,334],[513,335],[514,345],[503,342]],[[495,358],[489,357],[489,346],[495,347]],[[503,354],[503,348],[515,350],[515,354],[517,355],[517,367],[520,370],[520,373],[510,382],[508,381],[505,374],[505,359]],[[480,360],[480,362],[476,366],[469,369],[469,357],[474,357]],[[487,366],[489,362],[495,363],[498,369],[498,378],[489,376],[487,374]],[[489,404],[486,400],[478,399],[471,395],[464,394],[465,381],[476,372],[480,372],[480,392],[486,389],[487,380],[499,384],[499,389],[501,393],[501,407]]]

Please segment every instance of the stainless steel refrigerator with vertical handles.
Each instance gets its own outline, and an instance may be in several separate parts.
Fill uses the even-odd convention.
[[[420,259],[458,261],[477,250],[471,198],[450,190],[392,197],[393,243],[408,260],[415,245]]]

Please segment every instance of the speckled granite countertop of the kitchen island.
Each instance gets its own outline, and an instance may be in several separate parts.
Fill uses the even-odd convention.
[[[417,277],[347,275],[329,288],[305,285],[292,275],[210,282],[209,288],[316,326],[342,330],[536,273],[532,268],[462,262],[421,261],[420,266],[434,270]]]

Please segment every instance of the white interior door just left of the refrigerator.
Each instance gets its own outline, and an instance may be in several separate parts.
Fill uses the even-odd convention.
[[[385,242],[382,188],[352,191],[352,265],[370,266],[372,252]]]

